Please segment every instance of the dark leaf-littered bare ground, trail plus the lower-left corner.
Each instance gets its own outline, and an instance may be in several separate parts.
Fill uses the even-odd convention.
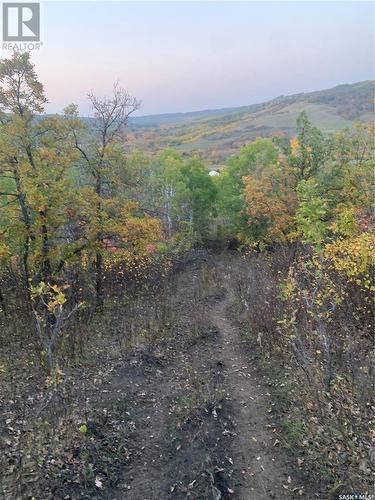
[[[44,396],[26,398],[29,386],[4,406],[0,498],[323,498],[281,446],[267,379],[233,317],[236,258],[203,252],[185,262],[163,334],[125,353],[103,337],[109,347],[71,375],[48,425],[37,410]],[[42,441],[29,428],[35,414]]]

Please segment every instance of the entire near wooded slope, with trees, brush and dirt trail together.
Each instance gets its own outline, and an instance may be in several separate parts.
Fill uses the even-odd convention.
[[[370,491],[374,125],[301,112],[210,177],[128,150],[120,86],[89,98],[45,116],[1,60],[1,494]]]

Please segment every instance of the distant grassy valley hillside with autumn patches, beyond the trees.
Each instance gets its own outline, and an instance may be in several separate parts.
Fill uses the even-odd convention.
[[[372,121],[374,81],[280,96],[239,108],[135,117],[130,122],[129,140],[133,148],[155,152],[173,146],[220,164],[256,137],[293,135],[303,110],[325,132],[350,127],[356,121]]]

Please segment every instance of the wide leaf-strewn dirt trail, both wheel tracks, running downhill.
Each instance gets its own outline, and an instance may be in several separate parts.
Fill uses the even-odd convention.
[[[182,274],[179,326],[168,347],[174,351],[162,361],[132,359],[112,380],[112,394],[129,401],[130,460],[118,486],[97,498],[312,498],[280,447],[267,385],[231,320],[229,262],[210,258],[204,266],[213,285],[198,305],[193,289],[201,269]],[[191,336],[194,322],[198,336]]]

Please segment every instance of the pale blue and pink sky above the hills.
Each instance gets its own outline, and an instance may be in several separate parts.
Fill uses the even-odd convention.
[[[47,111],[114,81],[138,115],[262,102],[374,78],[374,3],[41,2]],[[10,53],[1,51],[1,57]]]

